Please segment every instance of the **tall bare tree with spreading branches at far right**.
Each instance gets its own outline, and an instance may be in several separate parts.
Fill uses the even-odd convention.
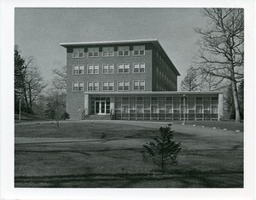
[[[196,63],[213,77],[229,80],[232,86],[236,121],[241,121],[237,83],[243,79],[243,9],[204,9],[208,25],[195,31],[201,35]]]

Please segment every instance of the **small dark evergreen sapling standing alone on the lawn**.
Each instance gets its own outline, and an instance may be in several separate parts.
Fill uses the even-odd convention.
[[[180,142],[172,140],[173,133],[172,124],[160,127],[160,136],[154,137],[154,141],[143,146],[144,157],[160,166],[162,174],[165,174],[167,166],[177,164],[177,154],[182,149]]]

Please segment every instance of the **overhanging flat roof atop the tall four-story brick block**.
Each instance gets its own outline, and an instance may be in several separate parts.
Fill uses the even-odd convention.
[[[158,39],[156,38],[149,38],[149,39],[136,39],[136,40],[119,40],[119,41],[102,41],[102,42],[77,42],[77,43],[60,43],[60,45],[64,48],[67,47],[79,47],[79,46],[90,46],[90,45],[109,45],[109,44],[131,44],[131,43],[152,43],[156,49],[160,51],[161,54],[164,54],[167,59],[172,63],[172,60],[166,54],[166,51],[160,45]],[[180,76],[180,73],[177,71],[177,68],[173,65],[174,71],[176,72],[177,76]]]

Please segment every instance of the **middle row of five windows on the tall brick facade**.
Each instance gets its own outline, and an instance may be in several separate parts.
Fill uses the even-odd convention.
[[[133,64],[133,73],[145,73],[145,63],[135,63]],[[130,64],[121,63],[117,65],[118,73],[130,73]],[[98,64],[90,64],[87,66],[87,74],[99,74],[100,66]],[[113,74],[114,66],[113,64],[103,64],[102,74]],[[73,66],[73,75],[84,74],[84,66]]]

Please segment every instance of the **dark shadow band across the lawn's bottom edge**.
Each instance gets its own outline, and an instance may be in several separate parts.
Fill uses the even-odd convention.
[[[137,174],[69,174],[52,176],[16,176],[15,187],[102,187],[125,188],[136,187],[137,183],[158,182],[154,187],[166,187],[164,183],[178,182],[177,187],[230,188],[242,187],[242,171],[200,171],[191,169],[183,171],[175,169],[168,174],[137,173]],[[237,180],[238,176],[238,180]],[[236,181],[226,181],[227,177],[236,177]],[[225,179],[224,179],[225,178]],[[212,181],[212,179],[215,179]],[[161,184],[163,183],[163,184]],[[197,183],[196,186],[193,186]],[[168,185],[167,185],[168,186]],[[140,187],[146,187],[140,185]],[[172,186],[173,187],[173,186]]]

